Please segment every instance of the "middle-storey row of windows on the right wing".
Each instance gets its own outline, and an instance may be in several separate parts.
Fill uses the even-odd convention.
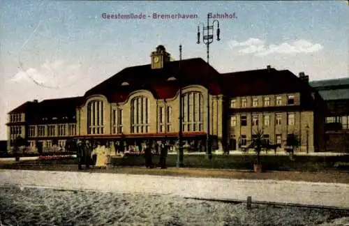
[[[241,126],[248,126],[247,123],[247,116],[242,114],[240,116]],[[270,126],[270,115],[269,114],[263,114],[262,117],[262,126]],[[275,115],[275,124],[276,125],[282,125],[282,114],[276,114]],[[251,126],[259,126],[259,116],[257,114],[252,115],[252,120],[251,120]],[[294,126],[295,125],[295,113],[290,112],[288,113],[288,120],[287,120],[287,125],[288,126]],[[230,126],[237,126],[237,116],[233,115],[230,118]]]

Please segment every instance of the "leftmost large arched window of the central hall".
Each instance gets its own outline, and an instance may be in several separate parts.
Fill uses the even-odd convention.
[[[104,133],[103,101],[92,100],[87,105],[87,134]]]

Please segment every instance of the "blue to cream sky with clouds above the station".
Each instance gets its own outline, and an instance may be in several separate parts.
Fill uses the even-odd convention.
[[[218,19],[210,47],[218,72],[271,65],[310,80],[349,75],[346,1],[20,1],[0,3],[0,140],[7,113],[27,100],[82,96],[123,68],[150,63],[164,45],[179,59],[202,57],[198,24]],[[104,19],[134,13],[145,19]],[[153,15],[191,15],[154,19]],[[190,16],[189,16],[190,17]],[[210,20],[210,23],[213,19]],[[216,29],[216,25],[215,29]]]

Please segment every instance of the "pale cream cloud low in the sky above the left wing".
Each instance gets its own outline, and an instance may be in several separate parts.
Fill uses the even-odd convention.
[[[31,82],[45,88],[60,89],[78,81],[80,64],[66,65],[64,60],[45,61],[36,68],[25,69],[21,66],[9,82]]]

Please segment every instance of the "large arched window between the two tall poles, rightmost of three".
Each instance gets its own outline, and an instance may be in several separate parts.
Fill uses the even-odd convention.
[[[203,96],[200,92],[182,95],[183,131],[203,131]]]

